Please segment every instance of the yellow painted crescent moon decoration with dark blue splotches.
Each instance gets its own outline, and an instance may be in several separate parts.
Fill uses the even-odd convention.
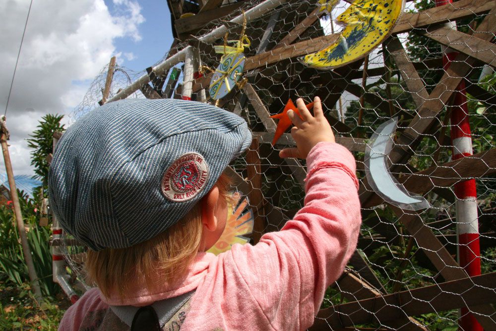
[[[345,25],[338,40],[298,60],[306,66],[330,70],[363,58],[389,36],[404,6],[405,0],[356,0],[336,19]]]

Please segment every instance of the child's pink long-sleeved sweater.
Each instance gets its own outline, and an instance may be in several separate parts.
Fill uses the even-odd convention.
[[[198,253],[177,284],[153,290],[135,284],[133,296],[125,299],[89,290],[67,310],[59,330],[97,327],[109,305],[143,306],[194,289],[182,330],[307,329],[326,288],[354,252],[361,224],[351,153],[320,142],[307,167],[305,206],[281,231],[266,233],[254,246],[236,244],[219,256]]]

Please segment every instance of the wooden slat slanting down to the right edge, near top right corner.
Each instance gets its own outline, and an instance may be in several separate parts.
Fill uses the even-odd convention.
[[[496,45],[478,38],[482,37],[481,33],[468,35],[451,27],[441,26],[419,34],[496,68]]]

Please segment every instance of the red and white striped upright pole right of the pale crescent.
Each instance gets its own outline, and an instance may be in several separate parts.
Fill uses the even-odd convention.
[[[435,0],[436,7],[453,2],[452,0]],[[454,23],[446,23],[456,29]],[[444,48],[443,65],[447,68],[458,53]],[[451,111],[451,144],[453,160],[472,155],[472,134],[465,94],[465,82],[462,81],[455,91]],[[475,179],[455,184],[456,195],[456,232],[458,234],[458,263],[469,276],[481,274],[481,252],[479,246],[479,219],[477,211],[477,190]],[[482,326],[467,308],[461,309],[459,327],[463,331],[483,331]]]

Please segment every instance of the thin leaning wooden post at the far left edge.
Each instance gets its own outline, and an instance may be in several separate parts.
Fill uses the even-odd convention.
[[[37,301],[42,299],[40,285],[38,283],[38,276],[33,264],[33,258],[31,256],[31,250],[29,249],[29,243],[26,237],[26,230],[24,229],[24,220],[22,218],[21,206],[19,204],[19,197],[17,196],[17,188],[15,187],[14,173],[12,171],[12,163],[10,163],[10,155],[8,153],[8,139],[9,133],[5,125],[5,116],[1,119],[1,149],[3,152],[3,161],[5,161],[5,171],[7,172],[8,186],[10,188],[10,199],[12,199],[12,204],[14,205],[14,215],[17,221],[17,229],[19,230],[19,237],[21,238],[22,252],[24,254],[24,260],[28,267],[29,279],[31,285],[33,286],[34,295]]]

